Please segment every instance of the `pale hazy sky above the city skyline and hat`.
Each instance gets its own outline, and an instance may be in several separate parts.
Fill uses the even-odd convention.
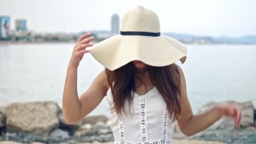
[[[27,19],[36,32],[110,30],[110,18],[141,5],[157,13],[161,32],[256,35],[256,0],[0,0],[0,15]]]

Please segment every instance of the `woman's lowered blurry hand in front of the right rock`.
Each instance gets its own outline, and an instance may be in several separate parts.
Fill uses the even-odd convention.
[[[231,117],[234,120],[234,128],[240,128],[242,114],[237,104],[220,103],[217,104],[216,107],[218,107],[221,110],[222,116]]]

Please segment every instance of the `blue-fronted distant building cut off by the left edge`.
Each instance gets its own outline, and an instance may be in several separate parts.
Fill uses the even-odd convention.
[[[10,16],[0,16],[0,40],[6,40],[11,32],[11,18]]]

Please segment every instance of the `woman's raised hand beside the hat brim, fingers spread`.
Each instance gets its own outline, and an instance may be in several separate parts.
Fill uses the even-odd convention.
[[[80,61],[83,59],[83,55],[90,52],[90,50],[86,50],[86,48],[93,45],[90,42],[94,39],[94,37],[88,37],[89,35],[91,35],[91,32],[81,35],[77,40],[77,43],[75,44],[72,56],[69,61],[69,67],[77,68]]]

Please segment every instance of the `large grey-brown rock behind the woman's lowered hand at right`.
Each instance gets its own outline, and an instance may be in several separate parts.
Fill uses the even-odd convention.
[[[252,101],[245,101],[245,102],[236,102],[236,101],[223,101],[227,103],[236,103],[239,105],[241,112],[242,112],[242,119],[240,123],[241,128],[247,128],[249,126],[254,125],[254,113],[253,113],[253,103]],[[208,102],[204,104],[198,109],[197,114],[202,114],[204,112],[209,111],[215,105],[218,104],[216,102]],[[233,129],[234,127],[234,120],[230,117],[222,117],[220,120],[216,121],[213,125],[211,125],[207,129]]]

